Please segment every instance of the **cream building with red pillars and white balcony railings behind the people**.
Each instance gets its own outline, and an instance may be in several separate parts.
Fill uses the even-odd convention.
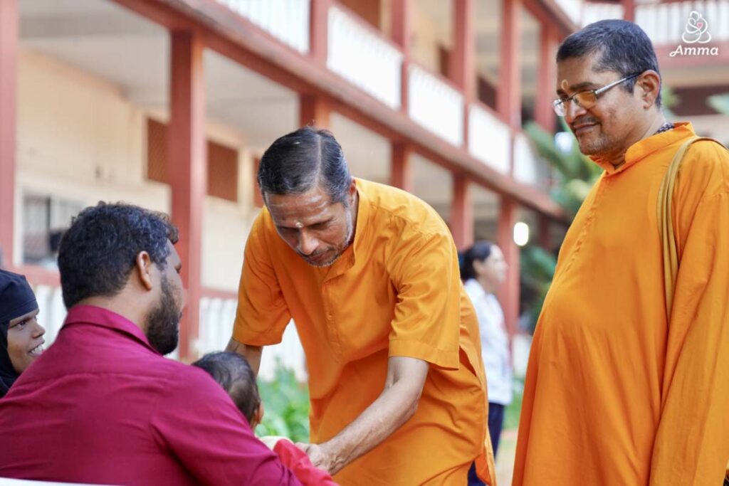
[[[720,58],[671,57],[698,8]],[[589,20],[632,18],[666,79],[690,68],[703,84],[677,86],[713,79],[718,91],[729,84],[717,68],[728,15],[727,0],[3,0],[1,262],[34,284],[52,339],[65,315],[55,247],[71,216],[98,200],[171,213],[188,290],[179,358],[222,348],[262,204],[257,160],[313,123],[332,130],[354,176],[433,205],[459,248],[499,243],[515,332],[513,227],[527,222],[552,247],[567,223],[522,130],[528,120],[555,130],[558,42]],[[702,116],[706,130],[720,126]],[[297,366],[289,328],[280,354]]]

